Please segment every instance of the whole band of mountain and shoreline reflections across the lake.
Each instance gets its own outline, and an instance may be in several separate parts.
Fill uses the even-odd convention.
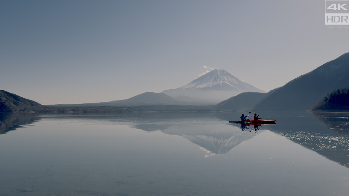
[[[129,115],[50,115],[9,114],[0,115],[0,134],[40,121],[41,118],[69,118],[85,121],[127,123],[130,127],[146,132],[161,131],[169,135],[181,136],[213,154],[225,154],[263,129],[285,136],[326,158],[349,168],[349,112],[290,112],[265,113],[265,119],[276,119],[276,125],[264,125],[257,132],[242,131],[240,125],[227,123],[238,113],[216,114],[129,114]],[[198,117],[199,116],[199,117]],[[218,118],[222,129],[210,130],[210,126],[181,127],[181,121],[195,122],[198,118]],[[201,118],[201,120],[202,120]],[[205,120],[204,120],[205,121]],[[252,129],[251,127],[250,129]]]

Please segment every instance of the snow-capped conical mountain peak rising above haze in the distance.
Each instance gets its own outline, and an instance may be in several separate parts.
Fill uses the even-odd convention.
[[[222,69],[215,69],[177,89],[162,93],[171,97],[188,96],[218,103],[241,92],[265,92]]]

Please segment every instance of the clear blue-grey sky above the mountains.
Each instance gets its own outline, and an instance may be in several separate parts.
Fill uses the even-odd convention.
[[[0,90],[40,104],[127,99],[210,68],[269,91],[349,52],[324,0],[1,0]]]

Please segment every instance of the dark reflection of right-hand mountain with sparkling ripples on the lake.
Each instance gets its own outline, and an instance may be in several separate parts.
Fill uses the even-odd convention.
[[[318,154],[349,168],[349,113],[294,112],[277,119],[270,131],[285,136]]]

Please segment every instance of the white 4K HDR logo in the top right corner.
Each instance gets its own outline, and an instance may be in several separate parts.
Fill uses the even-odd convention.
[[[325,25],[349,25],[349,0],[325,0]]]

